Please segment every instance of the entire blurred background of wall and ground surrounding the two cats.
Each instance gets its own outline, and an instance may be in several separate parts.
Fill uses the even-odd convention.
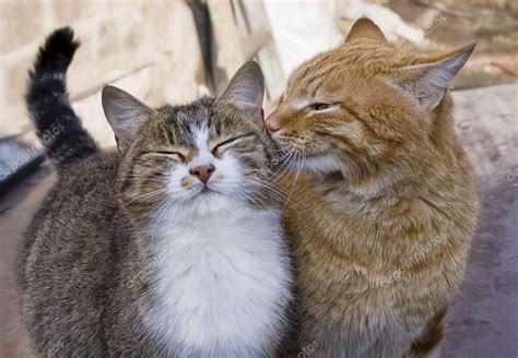
[[[157,106],[215,94],[246,60],[266,76],[266,112],[291,71],[343,41],[368,16],[404,51],[476,43],[456,79],[457,129],[483,201],[468,278],[449,312],[443,357],[518,356],[518,1],[516,0],[48,0],[0,1],[0,357],[20,357],[12,263],[55,180],[24,107],[27,70],[54,28],[82,46],[69,69],[73,107],[103,147],[101,107],[114,84]]]

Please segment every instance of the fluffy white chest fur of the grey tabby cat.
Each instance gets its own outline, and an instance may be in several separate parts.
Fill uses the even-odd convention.
[[[219,212],[160,228],[149,329],[180,357],[261,357],[285,329],[291,270],[279,218]]]

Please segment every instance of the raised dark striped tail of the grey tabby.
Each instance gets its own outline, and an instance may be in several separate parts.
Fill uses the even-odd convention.
[[[28,72],[27,108],[47,156],[58,171],[98,152],[67,93],[67,69],[78,47],[72,28],[56,29],[39,48],[34,69]]]

